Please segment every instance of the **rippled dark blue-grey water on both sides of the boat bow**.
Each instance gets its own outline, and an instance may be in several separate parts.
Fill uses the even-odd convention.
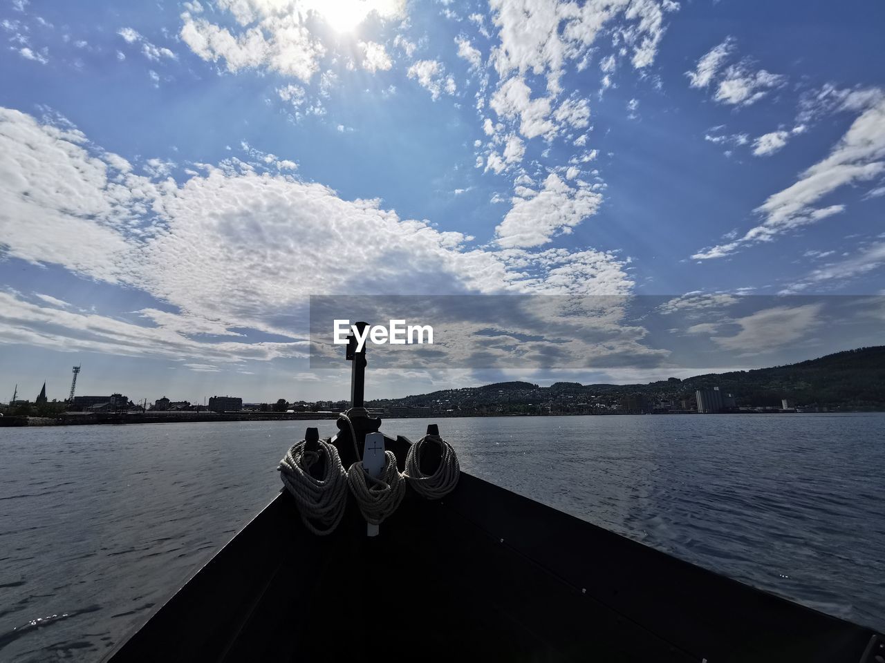
[[[439,423],[475,476],[885,630],[885,415]],[[306,425],[335,431],[0,428],[0,660],[100,658],[273,498]]]

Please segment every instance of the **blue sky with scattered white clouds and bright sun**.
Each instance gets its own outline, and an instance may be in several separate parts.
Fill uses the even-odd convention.
[[[369,398],[882,342],[885,4],[0,3],[0,400],[345,398],[312,295],[498,353]]]

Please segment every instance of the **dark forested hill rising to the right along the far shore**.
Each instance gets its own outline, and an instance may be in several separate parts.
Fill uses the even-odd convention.
[[[377,400],[370,407],[518,413],[537,408],[561,412],[650,409],[669,403],[669,408],[678,410],[693,408],[695,390],[712,386],[734,393],[737,405],[744,407],[780,406],[781,400],[787,399],[791,405],[812,408],[885,410],[885,346],[846,350],[787,366],[708,373],[682,380],[671,377],[645,385],[558,382],[541,387],[528,382],[502,382]]]

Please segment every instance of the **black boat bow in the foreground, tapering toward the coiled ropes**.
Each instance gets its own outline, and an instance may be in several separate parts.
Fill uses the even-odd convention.
[[[108,659],[858,663],[885,652],[870,629],[473,476],[442,502],[408,492],[380,537],[365,532],[351,504],[332,536],[314,537],[283,492]]]

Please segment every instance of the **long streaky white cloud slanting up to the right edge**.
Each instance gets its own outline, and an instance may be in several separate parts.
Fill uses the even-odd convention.
[[[825,195],[885,172],[885,98],[871,97],[870,106],[854,120],[829,156],[804,171],[790,187],[772,194],[756,212],[765,218],[742,238],[704,249],[693,258],[704,260],[734,253],[744,245],[773,240],[783,232],[810,225],[842,212],[842,204],[816,208]]]

